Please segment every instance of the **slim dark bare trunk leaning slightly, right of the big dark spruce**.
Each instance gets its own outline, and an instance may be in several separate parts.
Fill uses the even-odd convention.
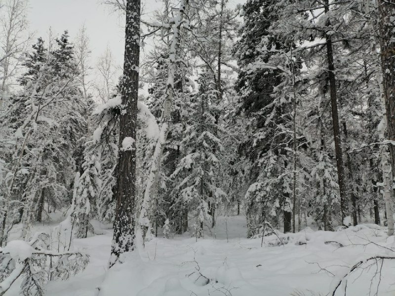
[[[325,13],[329,12],[329,1],[325,0]],[[328,18],[327,28],[330,30],[330,21]],[[346,176],[344,173],[343,154],[341,147],[340,127],[339,127],[339,115],[337,111],[337,96],[336,96],[336,77],[335,77],[335,66],[333,62],[333,48],[331,36],[325,34],[326,38],[326,56],[328,59],[328,76],[330,86],[330,101],[332,107],[332,123],[333,123],[333,138],[335,142],[335,153],[336,153],[336,165],[337,165],[337,177],[340,189],[340,208],[342,214],[342,223],[344,218],[348,214],[347,210],[347,188],[346,188]]]

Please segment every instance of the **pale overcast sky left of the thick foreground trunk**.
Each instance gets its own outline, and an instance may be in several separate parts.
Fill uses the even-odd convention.
[[[30,30],[36,37],[48,37],[49,27],[60,35],[68,30],[71,38],[77,36],[83,24],[90,38],[92,62],[110,46],[117,63],[122,63],[124,22],[118,13],[100,4],[99,0],[30,0]]]

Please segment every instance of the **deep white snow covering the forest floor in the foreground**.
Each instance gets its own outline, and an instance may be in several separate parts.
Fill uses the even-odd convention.
[[[358,260],[395,256],[394,237],[388,238],[387,229],[375,224],[334,232],[307,227],[295,234],[277,233],[282,245],[274,234],[263,241],[247,239],[245,218],[235,216],[219,217],[215,233],[206,230],[204,239],[197,241],[188,234],[153,238],[143,252],[129,253],[124,263],[107,272],[112,230],[94,226],[97,235],[73,242],[74,248],[90,255],[86,269],[68,281],[50,282],[46,295],[324,296]],[[13,287],[6,296],[17,296],[17,291]],[[336,295],[345,294],[340,289]],[[352,273],[347,296],[363,295],[395,296],[394,259],[370,260]]]

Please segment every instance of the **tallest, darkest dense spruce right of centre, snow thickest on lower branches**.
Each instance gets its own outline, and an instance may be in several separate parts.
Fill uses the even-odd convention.
[[[275,215],[276,210],[267,206],[274,204],[282,209],[284,232],[288,232],[291,231],[292,219],[290,180],[287,174],[284,175],[285,179],[276,179],[276,176],[283,176],[284,169],[291,170],[288,147],[284,144],[292,143],[289,139],[291,134],[282,132],[291,128],[291,105],[289,101],[274,95],[275,88],[283,80],[283,71],[276,67],[261,67],[269,62],[274,52],[289,50],[292,45],[269,31],[271,23],[278,20],[277,9],[276,1],[247,1],[244,4],[244,26],[240,30],[235,55],[240,67],[237,80],[237,90],[241,94],[240,107],[249,118],[248,128],[251,129],[249,137],[240,145],[240,151],[247,152],[253,164],[250,175],[252,185],[246,199],[252,202],[254,194],[258,194],[260,198],[257,200],[262,203],[250,204],[249,215],[255,208],[254,213],[258,213],[261,223],[267,219],[269,212]],[[272,191],[270,196],[266,196],[264,192],[269,192],[266,191],[269,187]],[[264,191],[258,193],[262,188],[265,188]],[[251,223],[249,225],[252,227]],[[254,232],[252,229],[250,231]]]

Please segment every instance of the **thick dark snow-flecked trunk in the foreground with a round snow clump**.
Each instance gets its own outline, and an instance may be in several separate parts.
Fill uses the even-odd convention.
[[[134,212],[136,190],[136,119],[140,56],[140,0],[126,1],[125,53],[122,80],[122,110],[119,119],[117,201],[112,266],[124,252],[134,249]],[[126,137],[131,145],[122,148]],[[130,141],[129,141],[130,142]],[[125,143],[126,144],[126,143]]]

